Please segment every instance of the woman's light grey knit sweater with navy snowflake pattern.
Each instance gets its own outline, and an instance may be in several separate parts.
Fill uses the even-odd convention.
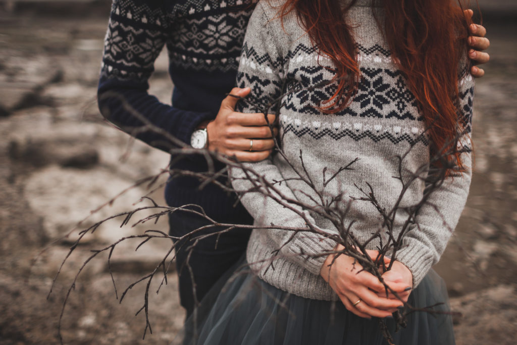
[[[343,193],[345,200],[339,207],[344,209],[350,202],[345,224],[354,221],[351,231],[362,242],[376,231],[382,217],[370,202],[352,201],[363,197],[359,188],[368,190],[367,183],[370,184],[377,200],[389,211],[402,190],[400,180],[393,177],[398,173],[397,156],[408,152],[403,161],[404,181],[409,176],[408,171],[428,166],[430,159],[423,118],[376,24],[373,12],[383,20],[382,9],[372,8],[371,1],[358,0],[347,14],[347,20],[354,27],[361,80],[357,94],[343,111],[324,114],[317,109],[322,100],[333,94],[336,85],[307,88],[330,81],[332,63],[318,54],[299,26],[296,14],[285,17],[282,27],[280,20],[275,19],[278,8],[273,8],[278,2],[258,3],[248,26],[237,77],[239,87],[252,88],[249,100],[256,105],[241,102],[240,111],[263,111],[282,93],[291,92],[281,99],[279,120],[282,150],[293,167],[281,155],[246,163],[246,166],[268,181],[276,182],[286,199],[313,206],[314,200],[319,200],[299,174],[307,175],[325,196],[325,202]],[[464,73],[459,88],[459,120],[469,132],[474,93],[469,74]],[[467,136],[462,139],[462,145],[470,147]],[[403,247],[397,252],[397,260],[413,273],[414,286],[439,259],[464,207],[470,184],[470,153],[463,156],[467,171],[462,176],[447,179],[432,194],[429,204],[420,209],[418,226],[408,232]],[[352,170],[342,171],[331,183],[324,183],[325,174],[328,178],[356,158]],[[232,169],[231,177],[257,228],[271,224],[307,226],[295,212],[263,194],[244,193],[252,189],[252,185],[242,170]],[[406,219],[404,208],[419,202],[424,187],[424,182],[419,180],[405,193],[394,220],[396,232]],[[337,232],[329,220],[293,207],[305,212],[310,222],[322,231]],[[292,235],[281,230],[253,231],[248,262],[258,276],[279,289],[307,298],[336,298],[319,275],[325,257],[317,257],[318,253],[331,250],[335,243],[309,232]],[[368,248],[375,249],[377,244],[377,240],[373,241]]]

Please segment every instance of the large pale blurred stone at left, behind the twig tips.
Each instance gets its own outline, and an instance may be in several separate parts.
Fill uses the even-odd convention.
[[[49,236],[62,236],[74,228],[86,229],[96,222],[133,208],[131,205],[145,194],[133,183],[103,169],[82,171],[49,166],[28,177],[24,194],[32,209],[44,217],[43,224]],[[126,193],[110,204],[119,193]],[[142,216],[148,215],[142,214]],[[110,228],[109,241],[127,234],[116,231],[117,223],[104,224]],[[108,231],[108,230],[106,230]],[[113,235],[113,233],[117,233]],[[134,234],[131,230],[129,234]]]

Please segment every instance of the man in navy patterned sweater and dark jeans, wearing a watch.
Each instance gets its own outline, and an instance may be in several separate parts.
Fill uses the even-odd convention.
[[[146,122],[195,148],[217,150],[240,161],[265,159],[273,140],[264,116],[235,112],[237,99],[225,97],[229,92],[241,97],[253,92],[232,88],[253,7],[253,0],[114,0],[98,89],[101,113],[121,129],[164,151],[172,148],[170,141],[153,130],[135,130],[144,122],[128,110],[128,105]],[[484,27],[473,25],[471,31],[475,36],[469,39],[470,45],[478,50],[488,48]],[[164,45],[175,86],[172,107],[147,93],[147,80]],[[488,54],[476,50],[469,56],[478,63],[489,59]],[[472,72],[477,77],[484,73],[478,67]],[[269,121],[273,120],[269,115]],[[173,168],[201,172],[207,170],[207,164],[202,157],[188,157],[175,160]],[[223,168],[222,164],[216,163],[218,168]],[[202,190],[198,187],[195,178],[172,178],[165,188],[165,200],[176,207],[199,205],[218,222],[252,223],[244,207],[236,203],[236,196],[215,184]],[[170,215],[170,233],[182,236],[207,223],[191,213],[176,212]],[[220,229],[209,231],[216,230]],[[241,257],[248,237],[249,231],[242,229],[219,238],[208,237],[196,244],[190,259],[185,250],[188,243],[177,243],[180,299],[187,315]],[[185,267],[187,260],[191,270]]]

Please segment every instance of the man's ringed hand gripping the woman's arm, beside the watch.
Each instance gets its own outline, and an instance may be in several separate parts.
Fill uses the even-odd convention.
[[[232,95],[246,97],[251,89],[234,87]],[[254,162],[266,159],[275,143],[271,130],[267,126],[264,114],[244,114],[235,111],[237,97],[226,96],[214,121],[206,126],[208,149],[223,155],[235,156],[242,162]],[[275,115],[267,115],[269,123],[275,121]],[[278,130],[275,128],[274,133]]]

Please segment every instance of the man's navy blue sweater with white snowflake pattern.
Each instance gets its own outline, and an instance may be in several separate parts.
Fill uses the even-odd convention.
[[[98,88],[101,113],[134,134],[134,128],[143,124],[127,111],[129,104],[149,122],[189,144],[195,128],[216,117],[221,100],[235,85],[252,10],[252,0],[114,0]],[[147,81],[164,45],[175,86],[172,107],[147,93]],[[171,148],[153,131],[138,132],[136,138],[164,151]],[[174,168],[203,171],[206,164],[189,157]],[[215,185],[199,191],[198,185],[193,178],[171,179],[165,199],[171,206],[201,205],[220,221],[248,216],[240,205],[233,206],[234,195]]]

